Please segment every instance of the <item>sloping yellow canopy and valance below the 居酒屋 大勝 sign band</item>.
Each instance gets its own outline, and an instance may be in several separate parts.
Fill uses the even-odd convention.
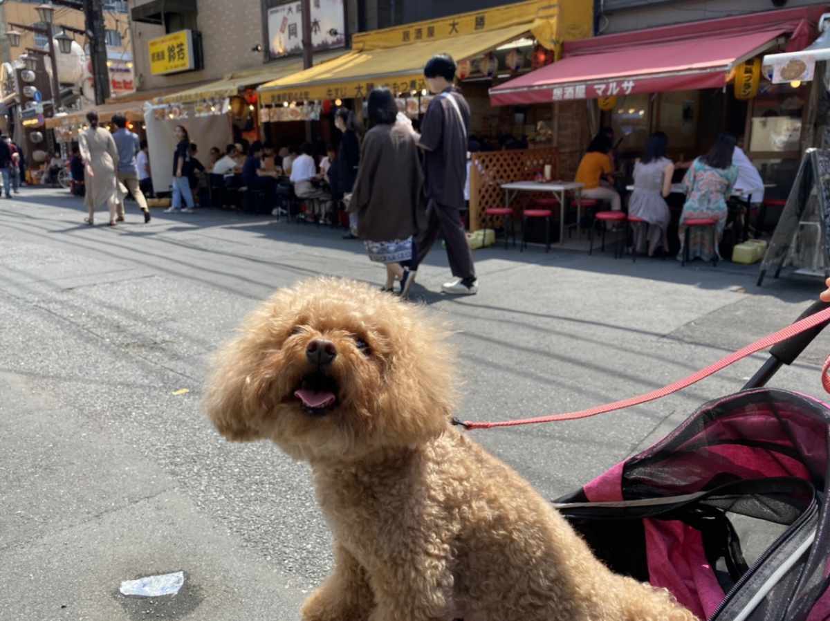
[[[375,86],[396,93],[422,90],[423,66],[442,52],[457,61],[480,56],[505,42],[530,32],[530,23],[500,28],[477,35],[421,41],[407,46],[369,51],[350,51],[344,56],[260,86],[262,103],[350,99],[369,94]]]

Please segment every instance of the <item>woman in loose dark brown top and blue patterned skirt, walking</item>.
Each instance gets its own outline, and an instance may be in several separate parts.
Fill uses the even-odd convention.
[[[393,291],[403,276],[400,262],[413,257],[423,174],[412,125],[398,120],[398,105],[387,88],[369,93],[369,123],[349,214],[358,216],[358,236],[369,258],[386,265],[383,291]]]

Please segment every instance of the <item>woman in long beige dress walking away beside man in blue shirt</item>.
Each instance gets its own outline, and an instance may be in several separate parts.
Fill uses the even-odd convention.
[[[87,224],[95,223],[95,209],[106,207],[110,210],[110,227],[115,227],[118,204],[118,181],[115,169],[118,165],[118,149],[108,130],[98,126],[98,113],[95,110],[86,115],[90,128],[81,134],[81,157],[86,164],[86,208],[89,217]]]

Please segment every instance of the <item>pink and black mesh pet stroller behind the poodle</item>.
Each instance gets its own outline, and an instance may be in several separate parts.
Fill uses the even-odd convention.
[[[740,393],[557,501],[612,570],[666,587],[700,619],[830,619],[830,407],[764,388],[824,325],[776,345]]]

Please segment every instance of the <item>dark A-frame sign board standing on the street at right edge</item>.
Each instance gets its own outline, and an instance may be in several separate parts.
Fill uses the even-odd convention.
[[[797,273],[830,276],[830,150],[807,149],[761,263],[764,276],[778,278],[784,266]]]

